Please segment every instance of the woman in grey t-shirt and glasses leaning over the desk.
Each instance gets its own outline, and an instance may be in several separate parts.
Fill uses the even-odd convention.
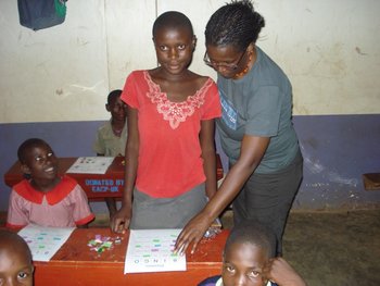
[[[192,250],[233,200],[233,220],[257,220],[281,238],[302,179],[303,159],[292,125],[292,87],[256,46],[265,22],[251,1],[218,9],[206,29],[204,62],[218,73],[223,116],[217,121],[229,172],[207,206],[183,228],[177,249]]]

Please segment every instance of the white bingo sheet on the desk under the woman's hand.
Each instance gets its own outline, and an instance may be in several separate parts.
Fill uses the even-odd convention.
[[[186,271],[186,256],[173,249],[181,229],[131,229],[124,273]]]

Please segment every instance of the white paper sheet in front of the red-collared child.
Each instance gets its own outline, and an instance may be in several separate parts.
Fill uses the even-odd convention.
[[[34,261],[49,261],[75,227],[45,227],[29,224],[18,232],[30,248]]]

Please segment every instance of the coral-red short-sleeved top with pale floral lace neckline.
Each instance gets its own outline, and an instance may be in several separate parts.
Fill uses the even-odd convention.
[[[138,110],[136,186],[140,191],[172,198],[205,181],[199,140],[201,121],[221,115],[213,79],[208,78],[186,101],[172,102],[148,71],[135,71],[126,79],[122,100]]]

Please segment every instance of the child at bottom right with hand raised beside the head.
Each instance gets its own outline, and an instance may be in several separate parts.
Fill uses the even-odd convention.
[[[206,278],[199,286],[305,286],[283,259],[274,259],[274,246],[276,236],[264,226],[252,221],[239,224],[227,238],[221,276]]]

